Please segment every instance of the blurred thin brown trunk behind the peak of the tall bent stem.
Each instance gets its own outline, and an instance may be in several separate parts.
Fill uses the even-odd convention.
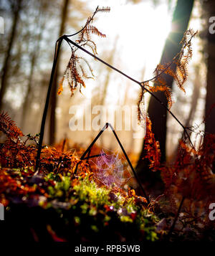
[[[65,24],[67,21],[67,9],[69,6],[69,0],[65,0],[62,8],[61,14],[61,25],[59,29],[59,37],[65,31]],[[59,54],[60,57],[60,54]],[[49,144],[52,145],[55,142],[56,138],[56,115],[55,110],[57,107],[57,78],[59,75],[59,62],[57,62],[57,67],[54,75],[54,81],[52,85],[52,92],[50,98],[50,108],[49,108]]]

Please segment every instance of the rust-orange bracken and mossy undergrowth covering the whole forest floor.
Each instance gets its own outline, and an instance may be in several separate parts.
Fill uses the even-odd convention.
[[[1,125],[4,132],[6,123]],[[8,129],[19,131],[15,123]],[[145,197],[135,194],[131,181],[122,186],[102,184],[92,161],[78,157],[83,149],[77,145],[76,150],[70,149],[67,140],[44,146],[39,172],[35,172],[37,136],[5,134],[0,153],[4,237],[18,232],[18,237],[36,241],[214,240],[209,204],[215,200],[215,136],[206,136],[196,151],[181,141],[171,165],[158,164],[159,148],[151,143],[154,137],[145,137],[146,148],[156,151],[154,157],[148,157],[146,151],[145,157],[152,171],[161,172],[165,184],[163,193],[150,196],[148,204]],[[99,151],[94,146],[91,154]]]

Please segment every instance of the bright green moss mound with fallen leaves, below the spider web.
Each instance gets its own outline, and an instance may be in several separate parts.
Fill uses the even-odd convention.
[[[17,175],[22,171],[17,171]],[[19,179],[22,184],[22,179]],[[126,240],[158,240],[156,223],[158,217],[148,212],[143,205],[137,205],[135,197],[126,196],[120,190],[107,186],[97,186],[88,176],[75,181],[66,174],[49,173],[44,176],[43,194],[39,194],[38,207],[43,211],[40,216],[47,216],[47,223],[52,222],[56,233],[67,239],[74,234],[87,236],[87,240],[107,239],[120,234]],[[33,185],[40,193],[40,185]],[[26,195],[31,203],[29,194]],[[28,202],[28,201],[27,201]],[[40,211],[40,210],[39,210]]]

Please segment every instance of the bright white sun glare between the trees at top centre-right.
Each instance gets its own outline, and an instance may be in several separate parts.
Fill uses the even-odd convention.
[[[161,59],[163,46],[171,29],[171,11],[168,11],[167,4],[161,2],[155,7],[151,1],[139,4],[90,1],[90,8],[96,8],[97,5],[110,6],[110,13],[97,16],[97,28],[107,35],[105,39],[97,41],[99,57],[102,57],[101,53],[105,50],[111,51],[118,38],[113,65],[136,80],[150,78]],[[115,75],[114,82],[110,82],[113,100],[118,97],[116,84],[124,82],[122,79],[122,76]],[[137,86],[134,87],[138,90]]]

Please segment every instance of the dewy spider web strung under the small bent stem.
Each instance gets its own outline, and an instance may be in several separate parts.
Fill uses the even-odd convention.
[[[103,149],[100,151],[100,156],[96,160],[96,171],[95,177],[101,181],[106,186],[122,186],[125,184],[132,176],[128,169],[124,169],[124,165],[119,158],[118,154],[106,154]],[[125,172],[127,171],[128,178],[125,178]]]

